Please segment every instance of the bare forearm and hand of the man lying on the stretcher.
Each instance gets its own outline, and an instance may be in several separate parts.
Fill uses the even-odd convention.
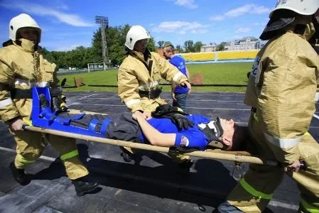
[[[153,146],[163,146],[163,147],[171,147],[175,145],[175,133],[161,133],[157,129],[153,128],[148,122],[145,120],[144,115],[140,111],[136,111],[133,114],[133,119],[135,119],[139,126],[146,136],[147,140]]]

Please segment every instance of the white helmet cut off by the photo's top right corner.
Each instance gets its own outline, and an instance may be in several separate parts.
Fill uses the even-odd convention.
[[[319,9],[319,0],[278,0],[269,18],[279,9],[287,9],[305,16],[313,15]]]

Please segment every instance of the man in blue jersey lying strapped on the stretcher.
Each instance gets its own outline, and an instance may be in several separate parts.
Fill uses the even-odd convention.
[[[168,104],[158,107],[152,114],[153,118],[146,120],[140,111],[112,115],[53,111],[45,96],[40,94],[39,97],[40,117],[48,122],[90,128],[105,133],[106,138],[121,141],[175,147],[178,151],[204,151],[209,144],[225,151],[234,151],[238,150],[240,141],[247,136],[243,127],[237,126],[232,119],[217,117],[211,120],[202,115],[185,115]]]

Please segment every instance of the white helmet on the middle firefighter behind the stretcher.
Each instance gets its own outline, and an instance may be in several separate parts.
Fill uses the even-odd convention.
[[[127,32],[125,45],[130,50],[133,50],[136,41],[146,38],[151,38],[146,29],[142,26],[135,25],[129,29],[129,32]]]

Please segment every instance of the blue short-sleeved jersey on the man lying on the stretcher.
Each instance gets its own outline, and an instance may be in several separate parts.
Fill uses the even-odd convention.
[[[210,141],[207,140],[206,136],[200,129],[198,124],[207,123],[210,119],[206,116],[193,115],[186,116],[190,121],[194,122],[193,127],[178,131],[175,124],[172,123],[171,119],[149,119],[148,124],[151,124],[155,129],[161,133],[176,133],[175,146],[184,146],[188,148],[198,148],[205,150],[206,146]],[[145,136],[142,134],[143,141],[146,141]]]

